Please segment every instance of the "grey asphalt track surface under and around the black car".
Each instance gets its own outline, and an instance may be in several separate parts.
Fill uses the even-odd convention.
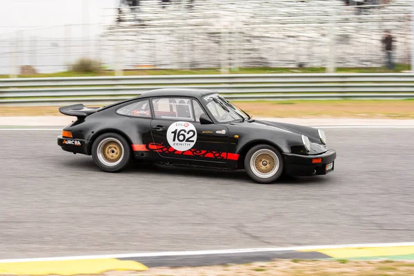
[[[0,259],[410,242],[414,128],[329,128],[335,172],[261,185],[244,172],[101,172],[59,131],[0,131]]]

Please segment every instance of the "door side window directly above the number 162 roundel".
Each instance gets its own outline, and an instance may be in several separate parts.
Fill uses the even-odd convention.
[[[175,119],[193,121],[191,99],[186,98],[159,98],[152,99],[154,115],[157,119]]]

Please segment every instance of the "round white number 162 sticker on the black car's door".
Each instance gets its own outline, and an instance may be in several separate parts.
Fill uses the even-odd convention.
[[[176,121],[167,130],[167,141],[175,150],[189,150],[197,141],[197,130],[187,121]]]

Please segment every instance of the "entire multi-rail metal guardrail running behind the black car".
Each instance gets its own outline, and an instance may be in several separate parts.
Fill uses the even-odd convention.
[[[206,88],[232,100],[408,99],[414,74],[255,74],[0,79],[0,104],[106,103],[158,88]]]

